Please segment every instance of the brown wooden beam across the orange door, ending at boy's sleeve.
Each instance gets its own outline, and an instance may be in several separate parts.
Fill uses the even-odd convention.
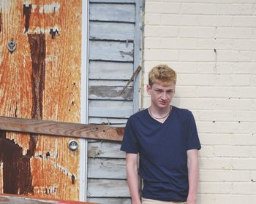
[[[85,125],[81,123],[21,119],[16,117],[0,117],[0,130],[107,141],[121,141],[124,135],[124,127]]]

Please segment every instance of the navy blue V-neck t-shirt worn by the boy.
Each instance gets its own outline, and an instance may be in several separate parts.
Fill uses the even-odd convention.
[[[121,150],[140,155],[142,196],[154,200],[186,201],[189,189],[187,150],[200,149],[192,112],[173,106],[164,123],[148,109],[129,117]]]

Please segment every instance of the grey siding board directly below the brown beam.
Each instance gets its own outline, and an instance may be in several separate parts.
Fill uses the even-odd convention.
[[[125,159],[125,152],[120,150],[119,142],[89,141],[88,157]]]

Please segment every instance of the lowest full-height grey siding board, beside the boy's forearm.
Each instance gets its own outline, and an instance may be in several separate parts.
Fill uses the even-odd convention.
[[[127,181],[114,179],[88,179],[88,197],[129,197]]]

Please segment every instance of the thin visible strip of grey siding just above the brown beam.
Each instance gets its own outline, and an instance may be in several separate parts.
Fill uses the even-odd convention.
[[[89,124],[110,125],[113,127],[124,127],[127,119],[124,118],[107,118],[107,117],[89,117]]]

